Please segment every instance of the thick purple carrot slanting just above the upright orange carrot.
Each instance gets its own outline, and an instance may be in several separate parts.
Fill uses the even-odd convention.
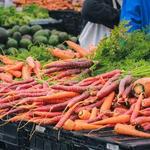
[[[118,82],[113,82],[110,85],[106,86],[105,88],[101,89],[98,93],[97,93],[97,97],[99,99],[104,98],[105,96],[109,95],[111,92],[115,91],[118,87]]]

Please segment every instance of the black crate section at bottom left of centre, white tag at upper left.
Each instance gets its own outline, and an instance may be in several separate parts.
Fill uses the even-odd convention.
[[[76,144],[68,140],[73,135],[71,132],[65,131],[68,137],[64,139],[62,131],[54,130],[52,127],[37,127],[38,130],[30,141],[30,150],[89,150],[80,142]]]

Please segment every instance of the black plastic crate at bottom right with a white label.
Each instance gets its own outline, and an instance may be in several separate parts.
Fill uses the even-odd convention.
[[[150,150],[150,139],[118,135],[110,128],[91,133],[49,128],[47,134],[69,144],[72,149],[66,150]]]

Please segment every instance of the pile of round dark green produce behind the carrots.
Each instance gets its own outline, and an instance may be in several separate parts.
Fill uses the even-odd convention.
[[[14,51],[30,50],[31,46],[47,45],[66,49],[62,44],[65,40],[77,41],[77,37],[66,32],[43,29],[40,25],[15,25],[6,30],[0,28],[0,48],[5,54],[12,54]]]

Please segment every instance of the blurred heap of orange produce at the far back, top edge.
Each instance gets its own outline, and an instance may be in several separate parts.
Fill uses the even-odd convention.
[[[37,4],[48,10],[75,10],[80,11],[83,0],[14,0],[16,4]]]

